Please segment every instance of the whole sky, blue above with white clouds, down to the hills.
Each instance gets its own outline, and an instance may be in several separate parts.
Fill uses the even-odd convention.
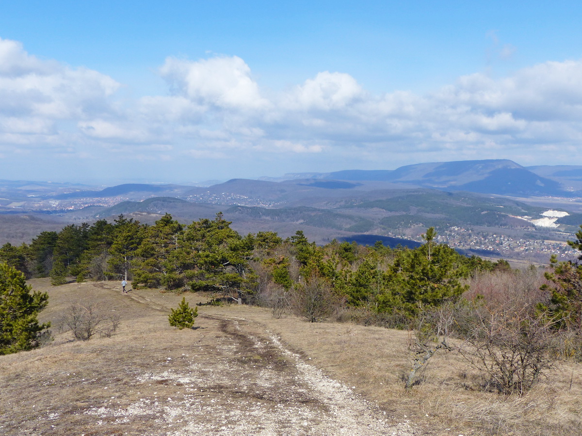
[[[582,165],[581,18],[573,1],[2,2],[0,178]]]

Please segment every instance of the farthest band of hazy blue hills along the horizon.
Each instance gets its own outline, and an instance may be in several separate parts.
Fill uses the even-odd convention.
[[[292,173],[279,178],[261,177],[258,180],[232,179],[210,187],[122,184],[95,189],[80,184],[0,180],[0,194],[12,201],[26,199],[27,196],[57,200],[120,197],[120,201],[141,201],[152,196],[164,196],[213,202],[212,196],[232,194],[250,199],[248,205],[255,200],[257,205],[262,202],[268,206],[317,196],[342,196],[331,192],[335,190],[371,191],[406,187],[519,197],[579,196],[576,191],[582,191],[582,166],[523,167],[506,159],[466,160],[419,163],[395,170],[343,170],[331,173]],[[240,204],[242,200],[232,198],[232,204]]]

